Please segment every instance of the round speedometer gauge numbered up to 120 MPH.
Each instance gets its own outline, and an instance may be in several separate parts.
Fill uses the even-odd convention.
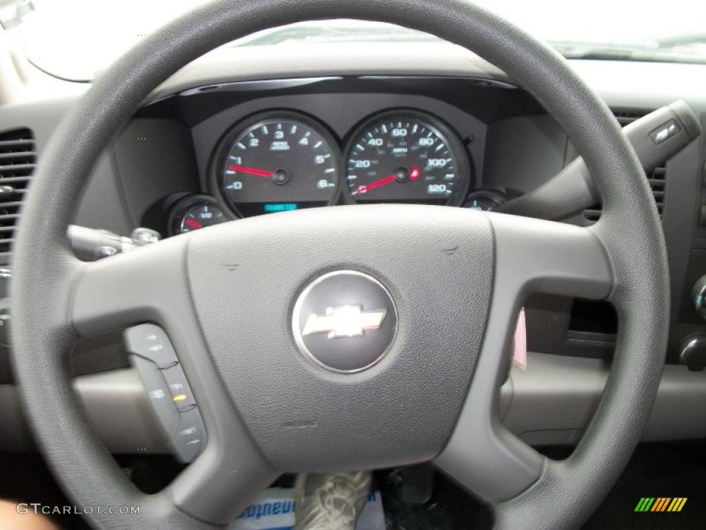
[[[460,204],[469,182],[468,155],[438,119],[417,112],[373,118],[352,135],[346,158],[355,202]]]

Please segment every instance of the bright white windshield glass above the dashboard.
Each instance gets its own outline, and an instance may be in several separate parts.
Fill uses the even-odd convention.
[[[28,59],[90,81],[160,25],[207,0],[0,0],[0,22]],[[706,63],[706,1],[479,0],[572,59]],[[329,20],[274,28],[229,47],[436,40],[405,28]]]

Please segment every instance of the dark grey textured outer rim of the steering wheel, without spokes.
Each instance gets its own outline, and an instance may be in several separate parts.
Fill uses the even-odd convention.
[[[431,0],[215,1],[140,42],[95,81],[68,112],[37,168],[13,259],[13,366],[25,411],[60,482],[82,505],[111,499],[142,505],[135,528],[208,525],[180,512],[164,495],[145,496],[119,469],[76,410],[66,353],[71,285],[81,268],[65,232],[98,156],[151,90],[189,61],[257,30],[300,20],[381,20],[433,33],[472,49],[529,90],[568,131],[604,200],[592,229],[609,254],[621,319],[604,398],[570,459],[550,462],[525,492],[493,508],[498,528],[566,528],[594,510],[626,464],[654,401],[664,365],[669,278],[662,228],[640,164],[608,108],[554,50],[477,6]],[[629,235],[629,237],[626,237]],[[36,325],[40,323],[41,325]],[[47,410],[45,396],[54,406]],[[60,421],[61,420],[61,421]],[[72,452],[71,440],[84,454]],[[77,480],[77,470],[92,473]],[[121,527],[92,517],[97,527]]]

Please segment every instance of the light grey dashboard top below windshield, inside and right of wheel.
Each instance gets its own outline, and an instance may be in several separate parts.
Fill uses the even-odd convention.
[[[351,49],[353,48],[353,49]],[[444,43],[329,43],[299,49],[257,47],[219,50],[184,66],[148,98],[152,102],[198,86],[229,81],[301,78],[316,75],[474,76],[516,83],[478,54]],[[341,57],[345,57],[342,64]],[[706,105],[706,72],[699,64],[643,61],[568,61],[578,75],[615,107],[657,109],[678,99],[695,110]],[[238,69],[233,68],[238,64]]]

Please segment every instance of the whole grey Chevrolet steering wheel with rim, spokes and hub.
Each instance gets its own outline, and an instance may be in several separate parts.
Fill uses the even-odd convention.
[[[225,223],[95,263],[73,256],[66,227],[92,167],[151,90],[238,37],[330,18],[432,33],[506,71],[578,146],[602,194],[599,222],[340,206]],[[346,283],[354,276],[363,278],[359,288]],[[328,289],[307,298],[317,285]],[[563,461],[540,455],[498,419],[517,312],[535,291],[609,300],[621,324],[601,404]],[[657,211],[606,105],[546,45],[465,1],[437,0],[220,0],[140,42],[97,78],[44,150],[11,295],[13,365],[56,479],[80,506],[140,507],[129,515],[92,510],[96,528],[150,530],[226,524],[285,471],[431,459],[491,505],[496,529],[576,526],[638,442],[664,365],[669,307]],[[318,318],[317,303],[368,295],[388,305],[387,324],[366,312],[378,308],[363,307],[364,336],[312,334],[301,348],[295,310]],[[354,322],[363,329],[361,314]],[[121,473],[68,367],[78,337],[142,322],[171,339],[208,432],[201,455],[156,495]],[[385,334],[382,346],[376,334]],[[374,364],[359,358],[369,341],[380,348]],[[342,355],[352,364],[335,369]]]

